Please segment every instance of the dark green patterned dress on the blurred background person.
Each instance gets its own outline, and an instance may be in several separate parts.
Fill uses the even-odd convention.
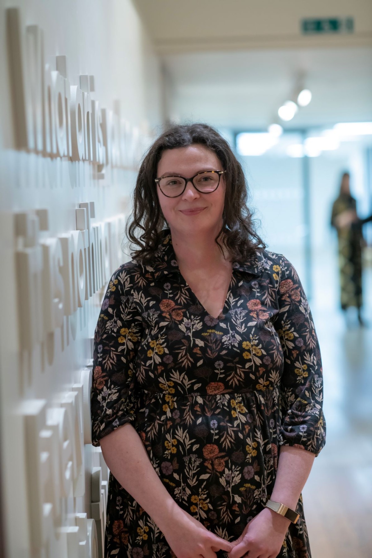
[[[337,215],[347,210],[356,211],[356,200],[347,194],[340,194],[332,206],[331,224],[335,227]],[[342,310],[349,306],[362,306],[362,267],[361,240],[362,230],[359,226],[337,229],[339,241],[339,270]]]

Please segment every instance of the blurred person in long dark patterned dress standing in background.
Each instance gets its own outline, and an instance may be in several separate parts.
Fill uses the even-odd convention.
[[[346,311],[355,306],[359,323],[362,306],[362,228],[356,214],[356,200],[350,194],[350,174],[344,172],[340,193],[332,206],[331,225],[337,230],[339,243],[339,270],[341,287],[341,309]]]

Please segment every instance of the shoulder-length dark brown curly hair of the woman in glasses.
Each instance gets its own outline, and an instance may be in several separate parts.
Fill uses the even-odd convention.
[[[215,238],[221,252],[223,249],[218,242],[220,237],[236,262],[243,263],[257,249],[265,248],[263,240],[255,231],[253,213],[247,206],[249,190],[243,169],[228,142],[207,124],[176,124],[154,141],[139,168],[133,193],[133,211],[125,227],[133,259],[144,264],[151,262],[162,240],[160,233],[164,225],[169,226],[161,211],[154,182],[163,151],[195,144],[214,151],[225,171],[223,225]]]

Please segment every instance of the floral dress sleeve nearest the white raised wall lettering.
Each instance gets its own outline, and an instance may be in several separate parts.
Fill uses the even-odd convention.
[[[93,383],[90,394],[94,446],[119,426],[136,419],[135,363],[142,317],[133,295],[127,264],[109,281],[94,332]]]

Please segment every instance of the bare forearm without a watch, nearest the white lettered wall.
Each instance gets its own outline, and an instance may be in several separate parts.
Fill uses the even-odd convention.
[[[153,468],[137,431],[125,424],[103,437],[100,446],[115,479],[164,531],[178,506]]]

